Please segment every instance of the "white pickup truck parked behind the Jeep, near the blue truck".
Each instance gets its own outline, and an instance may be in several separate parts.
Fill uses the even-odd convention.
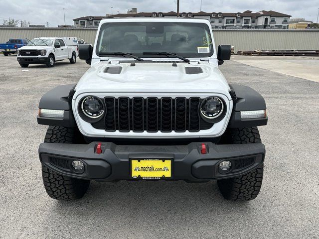
[[[37,37],[17,50],[17,61],[21,67],[28,67],[29,64],[53,67],[56,61],[67,59],[74,64],[78,56],[77,37]]]

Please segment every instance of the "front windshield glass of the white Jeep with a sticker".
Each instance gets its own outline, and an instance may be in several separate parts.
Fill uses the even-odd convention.
[[[183,57],[210,57],[213,54],[209,26],[192,22],[104,23],[96,49],[97,55],[102,57],[112,56],[107,53],[115,52],[139,57],[159,57],[150,52],[171,52]]]

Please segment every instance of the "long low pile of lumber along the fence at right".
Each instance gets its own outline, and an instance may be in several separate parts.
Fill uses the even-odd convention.
[[[238,51],[238,55],[267,55],[267,56],[319,56],[319,50],[259,50]]]

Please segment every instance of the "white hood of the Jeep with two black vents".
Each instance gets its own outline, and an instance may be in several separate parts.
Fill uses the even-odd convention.
[[[105,73],[107,67],[122,67],[118,74]],[[200,67],[202,73],[186,74],[185,67]],[[229,100],[229,86],[218,67],[208,62],[187,64],[135,62],[115,63],[101,61],[92,65],[76,88],[76,96],[82,93],[219,93]],[[156,95],[156,94],[155,94]]]

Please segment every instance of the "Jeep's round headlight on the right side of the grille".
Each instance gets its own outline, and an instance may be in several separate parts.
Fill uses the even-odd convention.
[[[219,117],[224,110],[224,104],[218,97],[207,97],[201,104],[200,112],[208,119]]]

